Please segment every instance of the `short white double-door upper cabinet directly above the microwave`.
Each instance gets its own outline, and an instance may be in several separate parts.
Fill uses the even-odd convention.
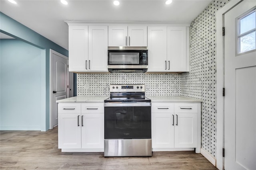
[[[108,46],[147,46],[147,26],[108,26]]]

